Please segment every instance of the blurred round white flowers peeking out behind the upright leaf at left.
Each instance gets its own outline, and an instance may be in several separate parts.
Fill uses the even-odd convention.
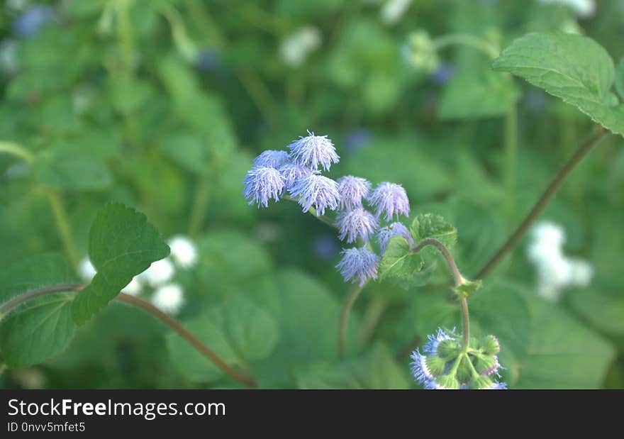
[[[138,296],[145,289],[151,289],[150,301],[161,311],[168,314],[177,314],[184,305],[184,289],[177,282],[173,282],[176,268],[190,269],[197,262],[198,253],[195,244],[186,236],[177,235],[169,239],[171,254],[165,259],[152,262],[143,273],[133,277],[123,292]],[[96,269],[89,257],[84,257],[78,267],[80,277],[84,282],[91,282],[96,275]]]

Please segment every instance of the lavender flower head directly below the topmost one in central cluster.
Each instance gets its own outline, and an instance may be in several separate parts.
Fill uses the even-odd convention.
[[[300,179],[290,190],[291,196],[299,198],[303,211],[314,205],[317,215],[324,215],[325,209],[334,211],[338,207],[338,183],[319,174],[311,174]]]

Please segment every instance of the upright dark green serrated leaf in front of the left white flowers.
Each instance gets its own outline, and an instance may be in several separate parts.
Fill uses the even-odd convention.
[[[121,203],[106,204],[89,231],[89,258],[97,274],[74,299],[74,321],[87,321],[133,277],[167,255],[169,246],[143,213]]]

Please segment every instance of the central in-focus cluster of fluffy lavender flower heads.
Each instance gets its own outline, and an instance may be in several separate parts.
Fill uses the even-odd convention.
[[[369,243],[373,235],[377,233],[381,254],[394,236],[403,236],[413,244],[403,224],[381,225],[382,221],[391,222],[401,215],[409,215],[405,189],[389,182],[373,189],[362,177],[346,175],[334,181],[321,175],[321,169],[328,171],[340,160],[326,135],[308,131],[306,137],[295,140],[287,148],[289,151],[267,150],[255,158],[243,180],[243,194],[249,204],[267,207],[269,200],[279,201],[287,193],[301,205],[303,212],[314,209],[317,216],[322,216],[325,211],[337,211],[334,225],[338,228],[338,238],[357,245],[342,250],[336,268],[345,281],[360,286],[369,279],[377,279],[379,255]]]

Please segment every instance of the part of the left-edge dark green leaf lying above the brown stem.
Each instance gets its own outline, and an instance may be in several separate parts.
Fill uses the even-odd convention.
[[[76,279],[61,255],[43,253],[31,256],[0,272],[0,303],[26,291],[74,283]]]

